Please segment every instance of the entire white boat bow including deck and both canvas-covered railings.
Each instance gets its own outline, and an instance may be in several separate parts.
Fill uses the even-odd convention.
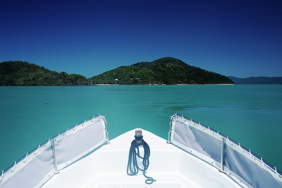
[[[275,167],[231,138],[179,114],[170,117],[168,141],[143,130],[151,151],[141,141],[149,156],[145,175],[156,180],[146,184],[142,171],[127,174],[135,130],[109,141],[106,118],[87,119],[3,170],[0,188],[282,188],[282,174]],[[141,139],[137,132],[131,151]],[[144,156],[144,149],[138,149]],[[135,163],[142,168],[142,159]]]

